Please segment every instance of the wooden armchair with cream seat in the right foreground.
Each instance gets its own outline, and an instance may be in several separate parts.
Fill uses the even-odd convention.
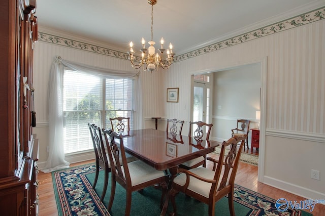
[[[175,196],[179,192],[183,192],[196,200],[208,204],[209,216],[215,214],[215,203],[225,195],[228,195],[230,214],[235,215],[235,177],[246,136],[234,136],[228,141],[223,141],[219,160],[208,158],[214,163],[213,170],[206,167],[197,167],[189,170],[178,169],[180,175],[173,180],[171,191],[169,192],[174,211],[172,215],[177,215]],[[239,150],[237,151],[237,143],[240,141]],[[228,146],[230,146],[230,151],[224,155],[225,148]],[[165,213],[163,212],[161,215],[165,215]]]

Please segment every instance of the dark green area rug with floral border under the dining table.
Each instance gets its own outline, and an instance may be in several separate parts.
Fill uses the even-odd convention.
[[[110,196],[110,183],[102,203],[98,194],[102,194],[104,171],[100,171],[95,190],[91,186],[94,173],[94,163],[52,172],[58,215],[124,215],[125,190],[117,184],[113,207],[108,211],[106,206]],[[234,193],[236,215],[312,215],[290,208],[279,212],[275,208],[276,200],[239,185],[236,185]],[[131,215],[159,215],[160,195],[161,191],[154,187],[146,188],[142,193],[134,192]],[[185,197],[182,193],[176,196],[176,203],[177,215],[208,215],[206,204]],[[171,210],[170,205],[169,212]],[[230,215],[228,198],[224,197],[216,203],[215,215]]]

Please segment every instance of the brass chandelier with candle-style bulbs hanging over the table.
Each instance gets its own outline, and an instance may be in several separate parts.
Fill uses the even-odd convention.
[[[151,40],[148,41],[148,44],[150,45],[148,49],[145,48],[145,40],[142,37],[142,49],[140,49],[141,53],[141,61],[139,64],[135,63],[136,57],[134,56],[134,50],[133,50],[133,42],[130,42],[130,50],[127,52],[129,55],[129,58],[131,60],[131,65],[133,68],[139,69],[140,67],[143,68],[143,70],[149,70],[150,72],[158,70],[158,67],[161,67],[163,69],[168,69],[169,66],[173,62],[173,57],[175,53],[173,53],[173,45],[169,44],[169,49],[167,49],[167,58],[163,60],[163,54],[166,52],[166,49],[164,49],[164,38],[161,37],[160,39],[160,49],[158,49],[159,53],[155,53],[155,48],[153,45],[155,45],[155,42],[153,41],[153,5],[157,4],[157,0],[148,0],[148,3],[151,5]],[[165,55],[166,56],[166,55]]]

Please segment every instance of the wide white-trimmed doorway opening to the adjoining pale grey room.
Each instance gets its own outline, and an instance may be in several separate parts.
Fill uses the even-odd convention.
[[[250,66],[255,65],[255,67],[258,70],[258,74],[251,74]],[[242,71],[240,76],[238,74],[234,73],[233,77],[231,77],[233,83],[231,86],[225,86],[226,88],[224,91],[216,90],[216,74],[218,72],[224,72],[229,71],[229,73],[225,73],[226,76],[230,76],[230,73],[233,69],[243,68],[246,71]],[[247,73],[246,73],[247,72]],[[263,182],[263,176],[264,176],[264,156],[265,156],[265,110],[266,110],[266,78],[267,78],[267,58],[258,59],[251,62],[242,62],[238,64],[234,64],[232,66],[226,67],[226,68],[213,68],[209,71],[200,71],[200,75],[197,75],[195,72],[192,73],[192,77],[195,76],[204,76],[208,75],[211,78],[211,87],[210,87],[210,100],[207,101],[207,105],[209,106],[209,109],[206,113],[200,112],[200,110],[197,110],[198,116],[202,116],[202,119],[204,119],[205,114],[208,114],[206,116],[206,120],[208,120],[210,123],[213,123],[212,127],[212,139],[217,142],[222,142],[224,140],[228,140],[229,136],[231,136],[231,128],[235,128],[237,124],[237,119],[239,118],[248,118],[252,121],[255,121],[255,123],[259,123],[260,133],[259,133],[259,151],[258,151],[258,181]],[[242,76],[246,75],[246,76]],[[258,78],[257,78],[258,77]],[[224,84],[224,78],[230,78],[230,77],[222,77],[222,79],[219,79],[219,81]],[[257,82],[259,86],[253,87],[249,83],[248,88],[254,88],[253,92],[247,92],[241,90],[241,84],[250,82],[250,80],[257,78]],[[199,83],[198,83],[199,82]],[[242,82],[242,83],[240,83]],[[191,118],[194,118],[194,87],[195,88],[203,88],[204,84],[202,84],[201,80],[196,80],[192,78],[192,88],[191,88]],[[230,87],[230,88],[229,88]],[[235,90],[237,93],[235,93]],[[198,91],[200,93],[200,91]],[[202,91],[204,93],[204,91]],[[203,94],[202,93],[202,94]],[[237,98],[235,99],[230,93],[237,94]],[[250,108],[247,108],[247,110],[238,111],[236,110],[237,107],[240,107],[241,104],[239,101],[245,97],[246,95],[254,95],[254,100],[249,101],[249,104],[253,104]],[[202,100],[204,100],[205,96],[202,95]],[[216,98],[220,98],[221,104],[218,104],[219,102],[216,102]],[[204,101],[202,101],[202,107],[204,108],[205,105],[203,104]],[[200,103],[199,103],[200,104]],[[201,106],[201,104],[200,104]],[[256,118],[256,111],[260,111],[261,113],[261,122]],[[249,114],[245,114],[249,113]],[[258,120],[258,121],[257,121]],[[210,136],[211,138],[211,136]],[[250,141],[249,141],[250,143]]]

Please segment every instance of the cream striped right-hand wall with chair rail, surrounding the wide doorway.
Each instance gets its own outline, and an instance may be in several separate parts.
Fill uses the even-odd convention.
[[[189,81],[193,73],[266,59],[266,84],[262,85],[262,93],[266,93],[264,125],[261,125],[264,126],[261,151],[265,155],[264,165],[259,167],[264,169],[260,180],[313,199],[325,195],[325,179],[310,178],[311,169],[325,172],[321,165],[325,159],[319,155],[325,150],[324,23],[320,20],[178,62],[165,80],[165,83]],[[183,81],[178,84],[180,97],[188,98],[185,94],[190,86]],[[176,105],[166,104],[166,113],[177,116]],[[288,151],[282,152],[283,149]],[[278,152],[285,156],[279,157]]]

